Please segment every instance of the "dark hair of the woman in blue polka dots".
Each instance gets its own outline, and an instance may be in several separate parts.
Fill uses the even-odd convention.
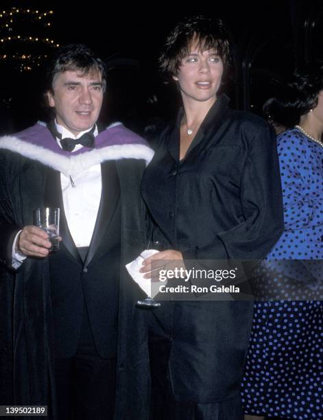
[[[318,105],[320,91],[323,91],[323,62],[308,64],[294,72],[284,105],[300,117]]]

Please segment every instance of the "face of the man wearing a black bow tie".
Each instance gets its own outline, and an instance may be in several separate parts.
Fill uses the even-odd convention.
[[[53,92],[48,92],[49,106],[55,108],[58,124],[77,135],[97,121],[103,91],[99,72],[64,71],[53,80]]]

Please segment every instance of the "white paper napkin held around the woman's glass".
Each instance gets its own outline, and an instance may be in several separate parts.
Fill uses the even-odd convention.
[[[151,297],[152,299],[154,299],[156,294],[158,294],[158,291],[159,291],[158,285],[162,285],[162,284],[166,285],[167,281],[158,281],[158,282],[154,281],[154,288],[152,288],[151,279],[144,279],[143,276],[145,275],[145,273],[139,272],[139,270],[143,266],[142,264],[143,264],[144,259],[151,257],[152,255],[158,252],[159,251],[156,249],[145,249],[143,250],[141,255],[136,257],[136,259],[134,259],[134,261],[130,262],[129,264],[125,266],[125,268],[127,268],[132,279],[134,279],[134,281],[139,285],[141,290],[143,290],[145,294],[147,294],[147,296]]]

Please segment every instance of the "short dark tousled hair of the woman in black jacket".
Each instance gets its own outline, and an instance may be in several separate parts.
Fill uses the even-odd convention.
[[[189,55],[192,43],[199,51],[215,49],[225,67],[232,65],[228,30],[222,20],[193,16],[184,18],[167,37],[159,58],[160,71],[168,77],[176,75],[182,58]]]

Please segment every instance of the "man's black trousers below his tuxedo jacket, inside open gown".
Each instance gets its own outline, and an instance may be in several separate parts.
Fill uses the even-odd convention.
[[[115,406],[116,359],[100,358],[84,305],[83,323],[73,358],[56,358],[60,420],[110,420]]]

